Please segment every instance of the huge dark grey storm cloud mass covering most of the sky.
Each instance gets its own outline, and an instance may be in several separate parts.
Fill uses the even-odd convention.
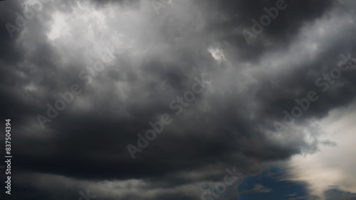
[[[156,14],[150,3],[142,1],[93,1],[93,4],[102,11],[106,5],[116,2],[121,9],[127,9],[127,5],[135,9],[148,5],[145,9]],[[347,18],[354,14],[355,4],[348,2],[351,6],[347,8],[336,1],[286,1],[288,8],[248,46],[241,30],[251,28],[251,19],[261,17],[263,7],[275,3],[174,1],[165,13],[152,17],[149,25],[137,26],[136,18],[116,26],[116,21],[121,19],[108,20],[112,32],[117,27],[126,28],[124,32],[137,40],[132,43],[147,51],[138,57],[133,56],[135,50],[132,49],[116,52],[115,60],[88,85],[78,77],[88,65],[82,50],[90,51],[81,45],[98,41],[88,42],[80,36],[85,34],[86,25],[75,23],[74,31],[68,34],[78,39],[68,43],[61,38],[50,40],[47,36],[54,23],[51,12],[73,13],[77,4],[72,1],[43,4],[44,9],[23,28],[26,32],[12,39],[3,26],[0,30],[0,44],[4,45],[1,50],[1,77],[4,77],[0,81],[1,116],[14,121],[14,170],[36,172],[34,177],[38,179],[44,174],[66,177],[64,181],[48,177],[56,182],[137,179],[150,184],[150,187],[142,187],[143,191],[167,189],[145,197],[147,199],[172,196],[197,199],[201,191],[189,193],[182,188],[192,184],[191,189],[199,189],[200,185],[194,183],[219,182],[226,167],[236,166],[244,174],[258,174],[273,161],[288,160],[310,149],[315,151],[315,144],[307,143],[303,134],[293,133],[293,128],[282,136],[283,141],[273,138],[273,122],[283,120],[283,110],[290,111],[295,106],[295,98],[303,98],[308,91],[318,89],[315,79],[337,65],[340,53],[352,52],[355,57],[355,39],[349,34],[355,30],[355,24],[347,30],[338,30],[337,35],[330,33],[331,36],[325,38],[318,35],[312,38],[321,49],[313,58],[305,57],[298,49],[293,52],[290,46],[303,43],[303,28],[312,29],[313,23],[325,18],[333,6],[340,9],[334,11],[340,12],[340,18]],[[21,12],[21,4],[16,1],[1,4],[6,6],[1,6],[2,24],[14,23],[14,13]],[[192,26],[192,19],[197,18],[196,10],[204,26]],[[103,35],[105,39],[105,31]],[[335,40],[330,41],[330,38]],[[26,43],[31,44],[29,48]],[[214,60],[207,51],[211,46],[221,49],[229,61]],[[283,62],[285,68],[281,64],[268,68],[274,60],[283,60],[283,57],[290,60]],[[249,77],[244,75],[246,70],[251,70]],[[211,85],[197,94],[182,114],[176,115],[177,110],[169,109],[169,103],[191,90],[194,77],[200,78],[201,73],[209,74]],[[337,80],[342,84],[325,94],[320,93],[320,100],[297,124],[308,126],[308,119],[322,118],[330,110],[350,104],[355,98],[353,77],[355,70],[342,74]],[[82,93],[42,130],[36,116],[46,116],[46,104],[53,105],[60,98],[58,92],[70,91],[75,83],[80,84]],[[31,85],[35,89],[26,89]],[[132,160],[127,145],[137,146],[137,133],[145,133],[150,128],[148,123],[158,121],[164,113],[169,113],[173,123],[165,126]],[[42,193],[43,189],[37,189],[45,184],[28,187],[19,183],[20,177],[16,180],[21,191],[27,194],[21,196],[22,199],[31,194],[38,199],[47,194],[52,199],[79,197],[76,188],[66,190],[60,185],[59,189],[53,189],[56,185],[51,184],[53,188]],[[120,197],[130,199],[130,196],[144,198],[138,194]],[[107,199],[110,198],[115,199],[114,195]]]

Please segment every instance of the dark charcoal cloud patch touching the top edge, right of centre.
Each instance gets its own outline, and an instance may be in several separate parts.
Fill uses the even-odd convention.
[[[258,57],[268,50],[288,48],[288,43],[298,35],[299,28],[304,23],[320,18],[328,11],[335,1],[284,1],[287,8],[279,11],[276,19],[264,28],[263,33],[253,40],[253,45],[248,46],[242,35],[242,30],[252,32],[253,19],[260,21],[266,15],[263,9],[276,7],[276,0],[268,1],[209,1],[204,4],[199,1],[199,6],[206,9],[209,18],[208,30],[214,32],[214,37],[226,48],[226,53],[231,59],[248,60],[256,62]],[[265,43],[272,43],[266,46]]]

